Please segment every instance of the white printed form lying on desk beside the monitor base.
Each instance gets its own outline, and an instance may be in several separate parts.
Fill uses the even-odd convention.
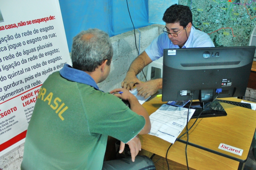
[[[174,143],[180,132],[186,127],[188,121],[194,114],[195,109],[175,107],[167,104],[162,105],[149,116],[151,130],[149,135],[154,135],[170,143]]]

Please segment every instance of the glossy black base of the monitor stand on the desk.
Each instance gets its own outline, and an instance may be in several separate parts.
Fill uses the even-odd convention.
[[[205,107],[205,106],[207,106],[209,103],[210,103],[210,102],[208,102],[208,103],[200,102],[200,106]],[[188,104],[189,104],[189,103],[188,103]],[[185,106],[186,108],[189,107],[188,104]],[[193,104],[194,106],[195,106],[196,104],[199,105],[199,102],[193,102],[192,104]],[[192,106],[193,106],[193,105],[192,105]],[[196,108],[191,107],[191,108],[193,108],[193,109],[196,109],[195,112],[194,112],[194,114],[192,115],[191,119],[197,118],[197,116],[202,112],[203,107],[200,107],[200,108],[198,108],[198,107],[196,107]],[[204,117],[216,117],[216,116],[226,116],[226,115],[227,115],[227,113],[226,113],[226,111],[224,110],[224,108],[220,105],[220,103],[219,103],[218,101],[215,100],[214,102],[212,102],[212,104],[211,104],[209,107],[207,107],[207,108],[204,109],[203,113],[199,116],[199,118],[204,118]]]

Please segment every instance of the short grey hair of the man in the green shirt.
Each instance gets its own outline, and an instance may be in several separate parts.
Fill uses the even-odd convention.
[[[87,38],[83,36],[87,34]],[[113,56],[113,47],[109,36],[99,29],[88,29],[78,33],[73,38],[71,59],[73,68],[82,71],[95,71],[103,61],[108,60],[110,65]]]

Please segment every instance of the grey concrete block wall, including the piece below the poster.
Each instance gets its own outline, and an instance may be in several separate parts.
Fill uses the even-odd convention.
[[[162,33],[163,25],[151,25],[140,28],[140,53],[160,34]],[[139,32],[135,30],[137,47],[139,48]],[[111,62],[111,70],[108,78],[99,83],[98,86],[101,90],[109,92],[115,88],[121,87],[121,82],[124,80],[127,70],[132,61],[138,56],[135,47],[134,32],[129,31],[116,35],[110,38],[114,48],[114,56]],[[143,69],[145,76],[147,74],[147,67]],[[138,78],[145,81],[144,76],[138,74]],[[4,170],[18,170],[23,158],[24,144],[8,152],[0,157],[0,168]]]

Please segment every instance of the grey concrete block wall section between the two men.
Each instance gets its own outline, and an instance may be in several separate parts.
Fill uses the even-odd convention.
[[[148,45],[162,33],[164,25],[154,24],[140,28],[140,53],[142,53]],[[136,42],[139,50],[139,32],[135,30]],[[108,78],[99,83],[100,90],[109,92],[115,88],[121,87],[121,82],[124,80],[126,72],[128,71],[132,61],[138,56],[135,46],[134,32],[129,31],[110,38],[114,48],[114,56],[111,62],[111,70]],[[143,69],[146,76],[147,66]],[[138,74],[141,81],[145,81],[142,72]]]

